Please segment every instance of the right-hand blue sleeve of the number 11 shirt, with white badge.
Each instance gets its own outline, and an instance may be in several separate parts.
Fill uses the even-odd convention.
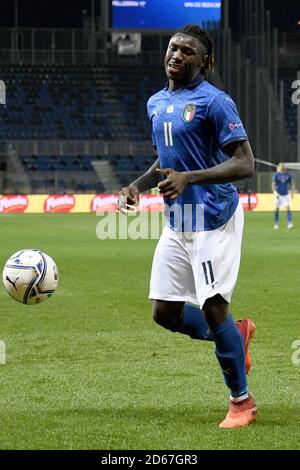
[[[212,101],[207,117],[220,147],[230,142],[248,140],[236,104],[226,93],[221,93]]]

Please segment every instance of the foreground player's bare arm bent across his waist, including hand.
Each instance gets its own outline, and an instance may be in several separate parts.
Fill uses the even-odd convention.
[[[189,184],[220,184],[253,176],[254,158],[247,140],[230,142],[223,151],[230,158],[212,168],[184,172],[170,168],[157,170],[167,177],[158,185],[160,192],[176,199]]]

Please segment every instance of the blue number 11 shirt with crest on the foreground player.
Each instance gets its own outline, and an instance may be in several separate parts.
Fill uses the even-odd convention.
[[[187,105],[192,107],[186,108]],[[192,111],[187,113],[187,109]],[[230,96],[201,75],[186,88],[160,90],[149,99],[147,111],[161,168],[211,168],[229,158],[222,150],[225,145],[248,140]],[[238,201],[231,183],[189,185],[175,201],[165,198],[169,207],[179,204],[183,214],[181,226],[175,226],[170,213],[169,226],[178,231],[215,230],[230,219]],[[192,208],[192,214],[184,207]],[[196,216],[196,207],[200,208],[200,217]]]

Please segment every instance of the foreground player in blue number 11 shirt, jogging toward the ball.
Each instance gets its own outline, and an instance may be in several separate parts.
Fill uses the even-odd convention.
[[[251,177],[254,166],[235,103],[206,80],[213,61],[213,43],[198,26],[171,37],[168,83],[147,104],[158,158],[120,191],[119,210],[126,213],[141,192],[157,185],[163,194],[168,225],[153,259],[153,318],[173,332],[215,342],[230,390],[220,427],[235,428],[255,421],[257,408],[246,380],[255,326],[248,319],[235,323],[229,313],[243,231],[231,182]]]

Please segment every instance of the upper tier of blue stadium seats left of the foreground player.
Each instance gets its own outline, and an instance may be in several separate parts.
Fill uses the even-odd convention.
[[[0,139],[149,139],[145,101],[162,71],[1,66],[10,106],[0,108]]]

